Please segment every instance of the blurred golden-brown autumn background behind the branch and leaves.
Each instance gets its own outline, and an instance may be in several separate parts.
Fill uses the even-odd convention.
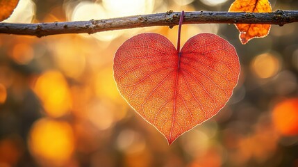
[[[231,0],[20,0],[4,22],[65,22],[229,10]],[[273,10],[298,1],[271,0]],[[241,45],[233,24],[183,25],[182,44],[215,33],[238,51],[241,74],[217,116],[171,146],[119,95],[117,48],[155,32],[176,45],[177,26],[51,35],[0,34],[0,167],[298,166],[298,23]]]

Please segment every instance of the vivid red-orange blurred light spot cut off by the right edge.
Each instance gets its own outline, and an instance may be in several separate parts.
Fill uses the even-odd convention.
[[[272,120],[276,130],[285,136],[298,134],[298,98],[283,100],[274,106]]]

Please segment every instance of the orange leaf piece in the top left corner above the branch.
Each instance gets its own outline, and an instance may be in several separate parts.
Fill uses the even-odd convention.
[[[0,0],[0,22],[10,17],[19,0]]]

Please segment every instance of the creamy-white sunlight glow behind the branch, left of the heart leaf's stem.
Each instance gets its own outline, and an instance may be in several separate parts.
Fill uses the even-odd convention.
[[[104,0],[102,3],[81,1],[72,12],[72,21],[90,19],[108,19],[114,17],[124,17],[129,15],[140,15],[152,13],[154,10],[154,0]],[[110,41],[122,35],[124,32],[140,31],[139,29],[105,31],[94,33],[91,36],[101,41]],[[90,35],[84,35],[89,38]]]

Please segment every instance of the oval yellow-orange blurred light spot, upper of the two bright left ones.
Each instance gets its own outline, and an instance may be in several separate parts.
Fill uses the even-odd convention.
[[[44,72],[34,89],[49,116],[63,116],[72,106],[67,82],[58,71]]]

